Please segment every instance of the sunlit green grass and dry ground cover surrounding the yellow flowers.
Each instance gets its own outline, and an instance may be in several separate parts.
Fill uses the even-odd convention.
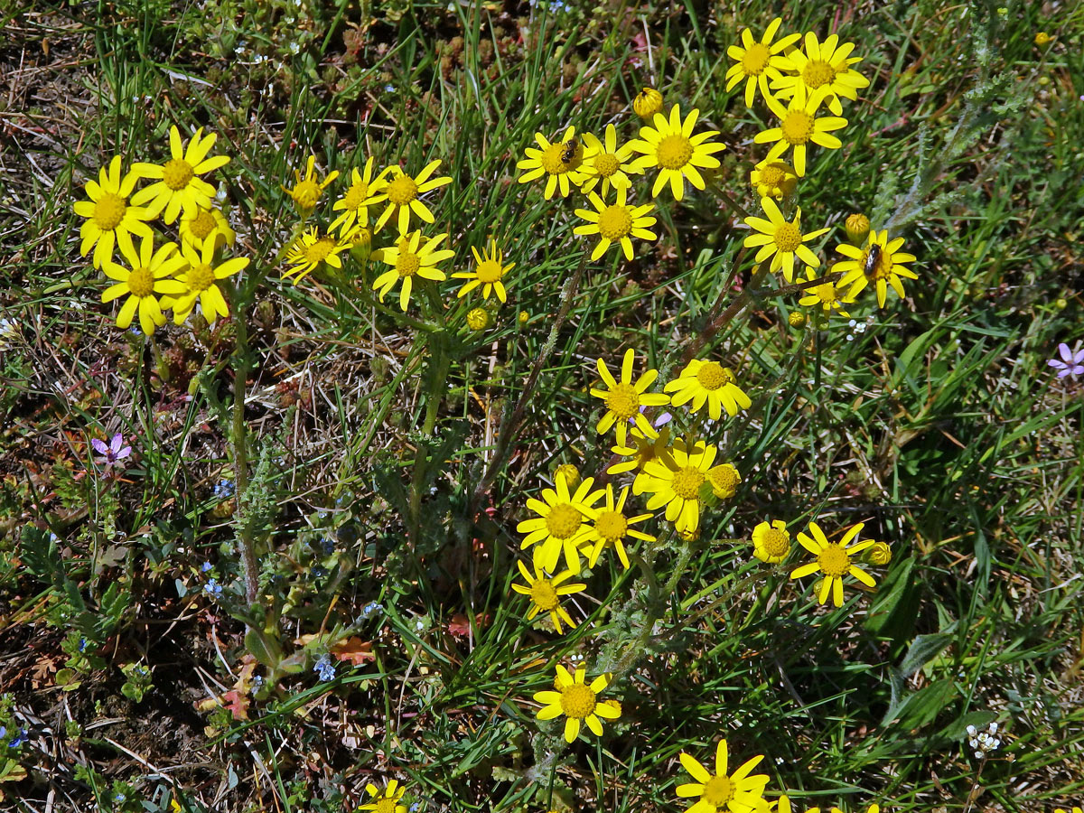
[[[894,218],[918,257],[905,300],[850,306],[874,319],[856,333],[839,317],[791,327],[801,308],[775,275],[719,320],[754,269],[720,193],[756,214],[748,172],[766,146],[752,138],[771,126],[743,86],[725,90],[726,48],[776,7],[570,5],[0,11],[14,259],[0,308],[18,326],[0,360],[0,725],[28,730],[0,778],[5,759],[29,772],[0,783],[0,806],[354,810],[367,782],[396,778],[421,811],[683,810],[678,754],[711,766],[721,737],[732,767],[765,754],[769,798],[798,810],[1081,804],[1082,389],[1046,360],[1080,338],[1084,306],[1084,14],[931,0],[783,14],[783,31],[855,42],[872,80],[844,101],[843,147],[814,147],[799,182],[805,230],[833,227],[812,244],[822,269],[852,211]],[[1038,30],[1054,43],[1036,47]],[[593,262],[572,232],[582,198],[543,199],[515,163],[567,125],[633,138],[644,83],[698,107],[727,150],[706,192],[658,198],[657,243]],[[114,154],[160,162],[175,124],[231,156],[217,181],[233,250],[253,258],[231,302],[247,318],[243,332],[170,324],[147,345],[100,302],[72,204]],[[472,268],[491,235],[517,263],[491,326],[465,327],[480,297],[456,299],[457,280],[415,291],[405,319],[398,286],[382,306],[382,263],[282,282],[299,218],[280,184],[310,154],[344,176],[370,155],[412,172],[439,158],[453,180],[427,198],[426,233],[450,234],[444,270]],[[743,482],[696,542],[660,517],[663,543],[634,546],[628,572],[604,554],[569,607],[579,625],[556,635],[512,591],[516,524],[557,465],[607,466],[588,390],[595,360],[612,371],[629,347],[660,385],[698,348],[737,371],[752,406],[700,428]],[[216,493],[238,479],[238,426],[241,509]],[[119,480],[89,448],[115,431],[137,452]],[[752,558],[765,518],[792,534],[863,521],[893,558],[876,591],[821,608],[813,579],[788,578],[804,553]],[[238,535],[260,554],[254,607]],[[323,682],[328,635],[373,657]],[[604,696],[622,715],[566,747],[531,696],[572,655],[589,675],[615,669]],[[274,663],[274,685],[254,687]],[[150,670],[141,699],[129,664]],[[196,708],[235,687],[247,720]],[[966,726],[993,721],[1004,745],[976,760]]]

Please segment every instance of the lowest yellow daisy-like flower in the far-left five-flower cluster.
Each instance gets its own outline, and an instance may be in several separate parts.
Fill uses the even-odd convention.
[[[127,330],[139,310],[139,326],[150,336],[155,327],[166,324],[166,315],[155,295],[185,292],[183,282],[166,279],[184,268],[184,258],[177,253],[176,243],[166,243],[155,251],[154,237],[143,237],[138,254],[130,241],[127,244],[121,241],[120,253],[131,269],[118,266],[111,259],[105,260],[102,271],[116,282],[102,292],[102,301],[112,302],[128,294],[128,299],[120,306],[117,314],[117,327]]]

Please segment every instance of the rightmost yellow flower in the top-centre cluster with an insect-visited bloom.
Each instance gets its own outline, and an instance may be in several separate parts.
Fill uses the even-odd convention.
[[[658,197],[662,188],[670,184],[670,191],[675,201],[681,201],[685,194],[685,179],[699,190],[705,186],[700,169],[714,169],[719,158],[712,155],[725,150],[725,144],[710,141],[718,136],[718,130],[705,130],[693,134],[693,127],[700,111],[696,107],[682,121],[681,107],[670,108],[670,119],[661,113],[656,113],[653,119],[655,127],[641,127],[640,139],[629,142],[629,146],[643,155],[636,158],[634,166],[637,171],[647,167],[658,167],[659,173],[651,186],[651,197]]]

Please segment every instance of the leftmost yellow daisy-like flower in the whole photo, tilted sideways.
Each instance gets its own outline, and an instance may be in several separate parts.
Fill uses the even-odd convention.
[[[75,214],[87,218],[79,227],[79,256],[86,257],[93,248],[94,268],[102,268],[113,259],[113,247],[117,244],[126,249],[126,257],[134,254],[132,234],[144,240],[151,236],[151,227],[143,221],[154,216],[146,209],[128,204],[128,195],[138,180],[139,176],[131,171],[121,177],[120,156],[114,156],[108,171],[102,167],[98,170],[98,181],[87,181],[83,186],[90,199],[75,204]]]

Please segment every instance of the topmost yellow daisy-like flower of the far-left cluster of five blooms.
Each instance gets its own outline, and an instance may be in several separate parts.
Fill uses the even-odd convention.
[[[136,206],[146,204],[151,217],[158,217],[159,212],[165,211],[163,220],[167,224],[177,220],[182,209],[185,215],[195,216],[199,209],[210,208],[215,188],[199,176],[225,166],[230,163],[230,157],[216,155],[214,158],[208,158],[207,153],[218,137],[210,133],[201,140],[201,136],[203,136],[202,127],[192,136],[185,150],[181,144],[181,133],[176,126],[170,127],[169,160],[162,166],[137,164],[132,167],[132,171],[137,175],[158,181],[132,195],[132,203]]]

